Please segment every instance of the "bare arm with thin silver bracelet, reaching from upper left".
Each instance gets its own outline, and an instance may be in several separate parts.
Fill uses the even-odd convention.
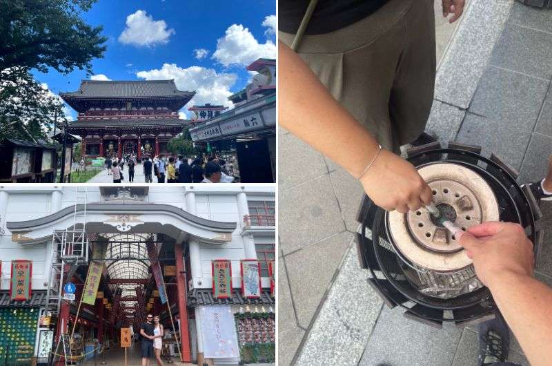
[[[412,164],[385,149],[378,155],[376,139],[333,98],[301,57],[281,41],[278,51],[279,125],[360,177],[378,206],[404,213],[419,209],[422,202],[429,204],[431,189]]]

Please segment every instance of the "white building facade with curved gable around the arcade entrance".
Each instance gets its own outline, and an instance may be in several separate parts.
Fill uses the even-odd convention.
[[[179,260],[176,260],[179,271],[176,276],[182,276],[186,291],[185,295],[178,292],[176,302],[188,314],[185,323],[179,320],[186,328],[179,334],[189,338],[189,342],[183,342],[188,345],[182,345],[181,351],[188,354],[190,360],[201,364],[204,358],[212,358],[215,364],[236,364],[240,360],[250,360],[250,354],[258,354],[259,347],[265,353],[273,349],[275,298],[271,291],[273,271],[269,268],[275,260],[276,242],[273,187],[168,184],[0,188],[0,311],[8,309],[13,313],[13,310],[25,309],[21,310],[23,315],[36,321],[36,327],[30,327],[36,329],[33,357],[40,356],[41,331],[61,327],[61,332],[66,332],[63,327],[67,327],[68,322],[59,322],[63,317],[61,310],[50,327],[41,323],[39,317],[48,309],[47,301],[52,301],[47,297],[52,297],[48,291],[52,287],[52,267],[56,263],[53,233],[68,229],[82,231],[89,238],[149,233],[170,238],[175,246],[180,246],[180,251],[175,249],[175,255],[184,256],[180,258],[184,268],[178,268]],[[87,247],[86,251],[87,258],[88,254],[91,258],[92,248]],[[258,261],[261,283],[259,296],[249,298],[244,296],[242,289],[242,260],[247,259]],[[16,260],[32,262],[32,296],[27,301],[16,302],[10,298],[12,261]],[[217,298],[213,292],[214,260],[231,263],[231,296],[227,298]],[[86,263],[81,261],[81,265],[86,266]],[[151,274],[150,271],[148,278]],[[98,314],[99,307],[104,311],[102,299],[98,300],[95,307],[90,307],[90,314]],[[173,311],[180,316],[179,306]],[[227,314],[222,314],[224,312]],[[99,316],[93,318],[90,324],[96,321],[100,325],[97,328],[106,327]],[[94,334],[98,336],[103,332],[103,329],[95,330]],[[26,337],[30,343],[29,334]],[[1,342],[0,339],[0,349]],[[3,360],[1,352],[0,361]],[[270,355],[264,357],[267,359],[270,360]]]

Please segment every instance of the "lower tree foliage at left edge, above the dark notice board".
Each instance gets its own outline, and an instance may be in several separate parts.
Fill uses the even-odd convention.
[[[46,137],[57,116],[64,119],[63,102],[32,78],[27,68],[0,71],[0,139]]]

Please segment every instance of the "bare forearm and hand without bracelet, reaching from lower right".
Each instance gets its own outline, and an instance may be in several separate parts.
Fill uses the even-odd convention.
[[[533,244],[524,229],[518,224],[486,222],[462,234],[460,244],[531,365],[549,365],[552,289],[533,277]]]

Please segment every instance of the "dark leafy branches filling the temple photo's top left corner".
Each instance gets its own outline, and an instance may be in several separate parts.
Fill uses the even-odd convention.
[[[81,19],[97,0],[0,0],[0,70],[48,67],[67,74],[92,73],[92,59],[103,57],[107,41],[101,26]]]

